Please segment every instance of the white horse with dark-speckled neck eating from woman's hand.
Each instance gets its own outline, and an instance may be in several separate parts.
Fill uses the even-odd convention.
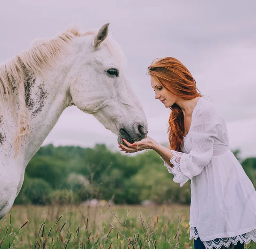
[[[147,136],[143,108],[108,24],[84,34],[70,27],[0,65],[0,219],[20,191],[26,165],[66,107],[93,114],[118,143]]]

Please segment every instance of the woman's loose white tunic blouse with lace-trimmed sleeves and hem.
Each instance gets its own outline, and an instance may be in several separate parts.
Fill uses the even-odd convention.
[[[239,131],[238,131],[239,132]],[[173,181],[191,179],[190,236],[206,249],[256,242],[256,191],[229,148],[226,123],[212,103],[199,98],[182,152],[172,150]]]

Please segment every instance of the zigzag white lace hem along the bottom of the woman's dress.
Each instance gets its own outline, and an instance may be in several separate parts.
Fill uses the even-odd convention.
[[[190,236],[189,240],[192,240],[192,237],[196,240],[199,235],[198,231],[195,227],[190,228]],[[206,249],[220,249],[221,246],[229,247],[230,244],[236,245],[238,242],[248,244],[251,240],[256,242],[256,229],[244,233],[242,235],[238,235],[235,237],[228,237],[228,238],[217,238],[214,240],[202,241]]]

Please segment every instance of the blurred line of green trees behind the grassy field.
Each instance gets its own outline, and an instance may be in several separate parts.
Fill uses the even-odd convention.
[[[160,156],[148,152],[128,156],[104,144],[43,146],[26,167],[15,204],[78,204],[94,198],[115,204],[190,204],[190,180],[181,188]],[[233,153],[256,188],[256,158],[241,160],[239,150]]]

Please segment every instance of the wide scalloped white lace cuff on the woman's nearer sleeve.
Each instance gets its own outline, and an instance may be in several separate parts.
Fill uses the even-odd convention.
[[[174,150],[171,150],[171,151],[172,151],[173,157],[171,158],[170,162],[172,165],[174,165],[173,168],[171,168],[172,174],[174,174],[173,181],[180,183],[180,187],[182,187],[189,180],[189,177],[184,175],[180,169],[180,159],[183,153],[177,152]]]

